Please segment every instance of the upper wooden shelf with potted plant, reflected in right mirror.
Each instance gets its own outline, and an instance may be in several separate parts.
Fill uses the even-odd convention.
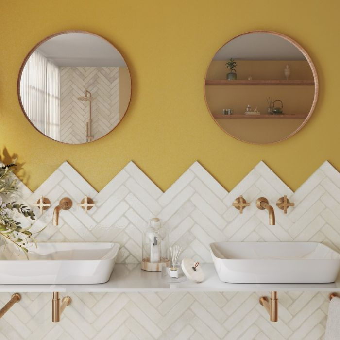
[[[205,85],[220,85],[220,86],[259,86],[259,85],[275,85],[275,86],[313,86],[314,80],[206,80]]]

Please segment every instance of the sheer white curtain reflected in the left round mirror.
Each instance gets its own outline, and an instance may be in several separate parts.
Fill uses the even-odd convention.
[[[35,127],[55,140],[60,140],[59,88],[59,68],[34,51],[21,74],[21,101]]]

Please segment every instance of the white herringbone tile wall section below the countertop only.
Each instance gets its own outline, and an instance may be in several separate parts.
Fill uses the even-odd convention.
[[[280,292],[280,321],[271,323],[255,293],[68,295],[72,305],[52,323],[52,294],[23,294],[0,320],[0,339],[322,340],[329,305],[326,293]]]

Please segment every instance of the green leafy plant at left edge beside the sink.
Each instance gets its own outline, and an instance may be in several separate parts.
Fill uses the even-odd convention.
[[[4,203],[6,195],[17,190],[17,181],[13,177],[12,168],[15,164],[4,165],[0,167],[0,237],[7,242],[13,242],[18,248],[25,253],[28,252],[25,245],[28,243],[27,238],[32,238],[29,228],[23,228],[20,222],[13,219],[14,212],[18,212],[25,217],[35,220],[34,212],[24,204],[17,202]]]

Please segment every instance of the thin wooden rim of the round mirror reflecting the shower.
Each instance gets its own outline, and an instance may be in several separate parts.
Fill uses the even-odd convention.
[[[105,42],[107,42],[108,44],[110,44],[115,50],[117,50],[117,52],[119,53],[119,55],[121,56],[121,58],[124,60],[126,66],[127,66],[127,69],[129,71],[129,79],[130,79],[130,82],[129,82],[129,85],[130,85],[130,98],[129,98],[129,102],[126,106],[126,110],[124,112],[124,114],[122,115],[121,119],[119,120],[119,122],[117,123],[117,125],[112,129],[110,130],[107,134],[95,139],[95,140],[92,140],[90,142],[85,142],[85,143],[75,143],[75,144],[72,144],[72,143],[66,143],[66,142],[62,142],[62,141],[58,141],[58,140],[55,140],[49,136],[46,136],[43,132],[41,132],[34,124],[33,122],[31,121],[31,119],[28,117],[28,115],[26,114],[25,112],[25,109],[23,107],[23,104],[22,104],[22,100],[21,100],[21,95],[20,95],[20,81],[21,81],[21,76],[22,76],[22,72],[23,72],[23,69],[25,67],[25,64],[26,62],[28,61],[28,59],[30,58],[30,56],[32,55],[32,53],[39,47],[41,46],[44,42],[50,40],[51,38],[54,38],[58,35],[62,35],[62,34],[68,34],[68,33],[84,33],[84,34],[89,34],[89,35],[93,35],[95,37],[98,37],[102,40],[104,40]],[[131,80],[131,72],[130,72],[130,69],[125,61],[125,58],[123,57],[123,55],[120,53],[120,51],[116,48],[116,46],[114,44],[112,44],[110,41],[108,41],[107,39],[105,39],[104,37],[102,37],[101,35],[99,34],[95,34],[95,33],[92,33],[92,32],[87,32],[87,31],[84,31],[84,30],[67,30],[67,31],[61,31],[61,32],[57,32],[55,34],[51,34],[49,36],[47,36],[46,38],[44,38],[43,40],[39,41],[36,45],[34,45],[34,47],[29,51],[29,53],[26,55],[24,61],[22,62],[21,66],[20,66],[20,69],[19,69],[19,74],[18,74],[18,78],[17,78],[17,96],[18,96],[18,100],[19,100],[19,104],[20,104],[20,107],[21,107],[21,110],[22,112],[24,113],[26,119],[30,122],[30,124],[34,127],[34,129],[36,131],[38,131],[41,135],[55,141],[55,142],[58,142],[58,143],[62,143],[62,144],[67,144],[67,145],[84,145],[84,144],[88,144],[88,143],[92,143],[92,142],[95,142],[97,140],[100,140],[102,139],[103,137],[109,135],[113,130],[115,130],[115,128],[120,124],[120,122],[123,120],[123,118],[125,117],[126,115],[126,112],[128,111],[129,109],[129,106],[130,106],[130,103],[131,103],[131,97],[132,97],[132,80]]]

